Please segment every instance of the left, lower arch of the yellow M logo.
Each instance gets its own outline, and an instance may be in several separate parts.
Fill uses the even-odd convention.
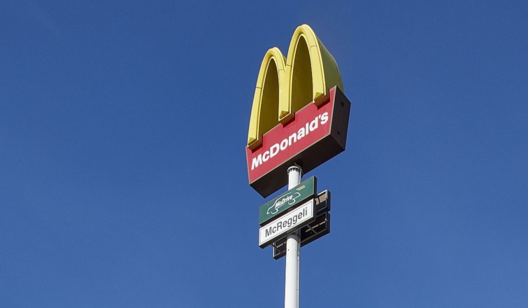
[[[248,147],[262,144],[262,135],[278,124],[278,101],[284,83],[285,61],[276,47],[269,49],[260,64],[257,87],[251,107]]]

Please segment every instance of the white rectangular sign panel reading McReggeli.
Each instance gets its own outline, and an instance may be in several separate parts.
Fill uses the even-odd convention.
[[[264,248],[276,239],[293,232],[315,219],[314,200],[310,200],[285,216],[280,216],[259,229],[259,247]]]

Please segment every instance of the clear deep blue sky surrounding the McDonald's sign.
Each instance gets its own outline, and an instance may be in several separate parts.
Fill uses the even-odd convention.
[[[526,307],[525,1],[2,1],[0,306],[282,307],[245,140],[308,24],[352,103],[301,307]],[[281,190],[284,191],[285,189]]]

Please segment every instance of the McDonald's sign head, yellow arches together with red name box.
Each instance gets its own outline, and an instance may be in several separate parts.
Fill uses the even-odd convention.
[[[245,151],[250,186],[267,197],[293,163],[309,172],[344,151],[349,114],[336,60],[311,27],[297,27],[287,58],[271,48],[260,66]]]

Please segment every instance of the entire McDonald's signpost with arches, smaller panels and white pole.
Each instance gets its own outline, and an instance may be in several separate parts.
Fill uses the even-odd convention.
[[[250,186],[262,197],[288,186],[259,209],[259,246],[285,255],[285,308],[299,307],[301,246],[330,232],[330,192],[317,194],[315,176],[301,183],[301,175],[345,151],[349,115],[336,60],[311,27],[297,27],[287,57],[266,52],[245,153]]]

